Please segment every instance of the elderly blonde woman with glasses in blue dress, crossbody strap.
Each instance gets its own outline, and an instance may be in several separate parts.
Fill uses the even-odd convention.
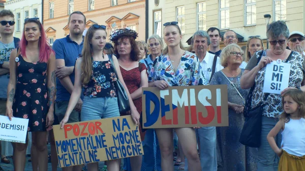
[[[245,122],[242,114],[244,99],[249,93],[249,89],[241,89],[239,82],[244,72],[239,67],[242,55],[243,51],[238,45],[226,46],[221,52],[221,64],[225,68],[216,72],[210,81],[210,85],[228,86],[229,126],[217,127],[218,167],[222,171],[257,170],[256,150],[237,141]]]

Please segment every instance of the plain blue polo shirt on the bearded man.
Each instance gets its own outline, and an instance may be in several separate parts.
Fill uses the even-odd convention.
[[[70,39],[70,35],[66,38],[57,39],[52,46],[55,51],[56,59],[64,59],[66,66],[74,66],[75,61],[83,48],[83,41],[80,45]],[[75,74],[69,76],[72,84],[74,85]],[[68,90],[60,83],[59,79],[56,78],[56,101],[69,101],[71,94]]]

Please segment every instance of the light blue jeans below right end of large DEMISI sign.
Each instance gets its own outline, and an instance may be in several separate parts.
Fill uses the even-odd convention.
[[[199,139],[200,163],[202,171],[217,171],[216,156],[216,127],[201,127],[196,129],[197,142]],[[186,159],[185,170],[188,170]]]

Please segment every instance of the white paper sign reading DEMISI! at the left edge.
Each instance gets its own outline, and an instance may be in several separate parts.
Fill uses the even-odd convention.
[[[25,144],[28,119],[0,116],[0,141]]]

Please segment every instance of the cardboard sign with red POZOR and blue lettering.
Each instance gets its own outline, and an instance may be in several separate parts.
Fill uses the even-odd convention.
[[[143,155],[131,116],[54,125],[59,167]]]

